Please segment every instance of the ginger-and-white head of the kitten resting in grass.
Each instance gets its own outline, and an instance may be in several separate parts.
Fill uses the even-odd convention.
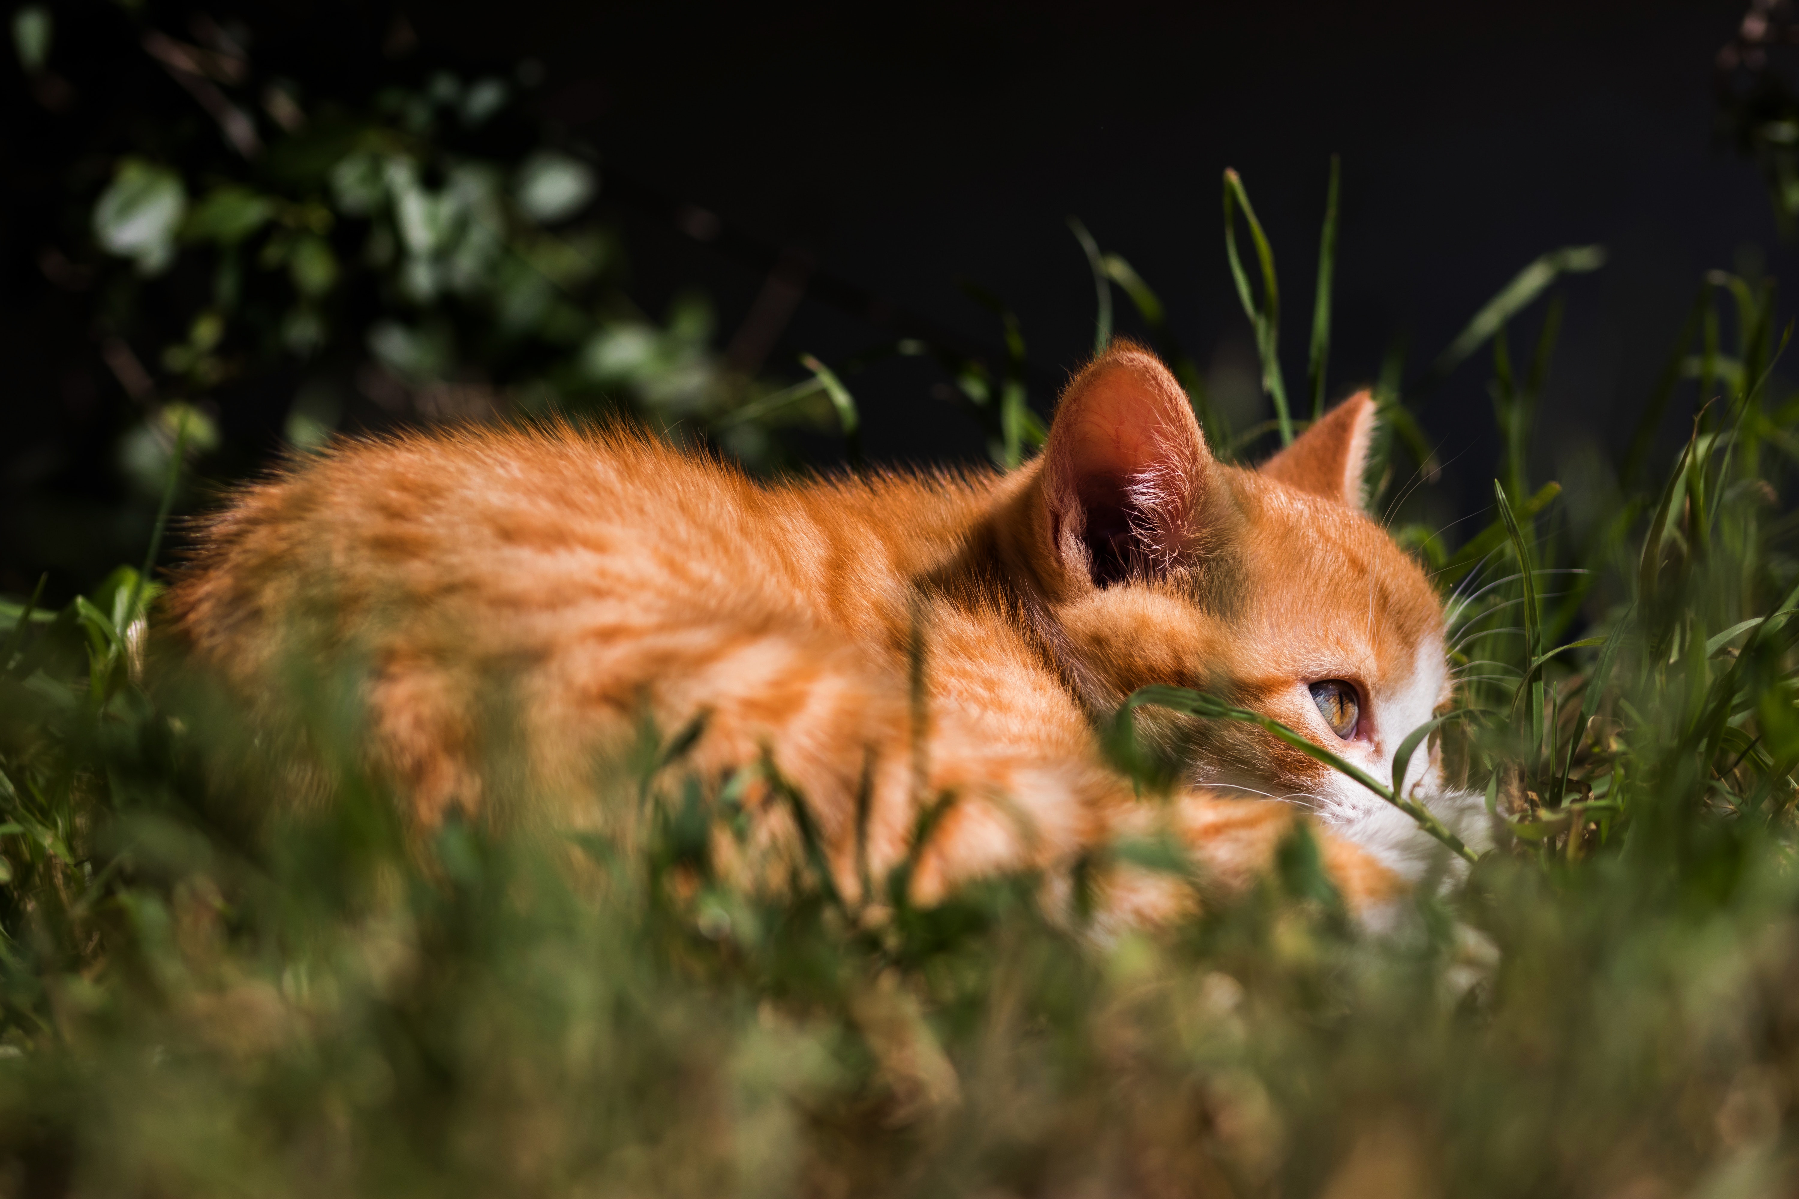
[[[1193,687],[1392,777],[1398,744],[1450,697],[1443,604],[1362,511],[1374,403],[1356,394],[1259,469],[1225,466],[1148,351],[1117,343],[1063,392],[1013,509],[1038,622],[1096,712]],[[1385,805],[1232,721],[1191,721],[1191,782],[1290,796],[1326,820]],[[1423,748],[1407,791],[1441,787]]]

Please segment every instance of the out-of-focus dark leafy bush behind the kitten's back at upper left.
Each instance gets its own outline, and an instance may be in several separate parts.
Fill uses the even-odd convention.
[[[317,25],[264,40],[160,4],[13,11],[27,95],[7,237],[56,334],[85,342],[34,347],[49,377],[25,388],[63,370],[122,484],[113,500],[94,462],[63,460],[63,491],[133,511],[142,539],[176,417],[216,480],[340,428],[624,417],[770,469],[772,430],[835,426],[813,392],[720,422],[772,386],[714,351],[702,295],[660,318],[631,302],[603,169],[547,115],[540,67],[435,67],[398,14]]]

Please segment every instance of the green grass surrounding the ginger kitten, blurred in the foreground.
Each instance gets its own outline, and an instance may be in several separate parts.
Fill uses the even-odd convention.
[[[1274,255],[1227,189],[1272,356]],[[1078,237],[1101,320],[1115,284],[1168,338]],[[218,769],[241,723],[135,681],[153,579],[0,608],[0,1195],[1792,1194],[1799,395],[1772,289],[1713,275],[1617,485],[1563,507],[1526,457],[1558,309],[1522,370],[1506,331],[1596,264],[1545,255],[1382,385],[1385,500],[1428,460],[1407,404],[1482,345],[1506,446],[1461,548],[1396,527],[1454,611],[1448,757],[1508,830],[1392,935],[1344,917],[1304,839],[1241,902],[1119,938],[1045,919],[1031,879],[880,919],[806,868],[745,893],[709,859],[729,795],[648,732],[595,796],[646,813],[630,843],[452,823],[417,852],[351,769],[257,836],[263,786]],[[1000,458],[1033,439],[1013,379],[979,377]],[[1709,403],[1657,476],[1687,381]],[[320,697],[309,730],[329,757],[354,712]]]

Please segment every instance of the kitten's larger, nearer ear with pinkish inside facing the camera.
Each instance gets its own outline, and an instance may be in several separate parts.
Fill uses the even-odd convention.
[[[1115,342],[1069,383],[1043,448],[1052,552],[1094,586],[1162,577],[1196,548],[1214,471],[1175,376]]]

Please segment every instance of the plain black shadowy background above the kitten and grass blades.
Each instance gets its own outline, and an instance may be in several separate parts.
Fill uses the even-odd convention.
[[[345,74],[390,68],[369,50],[390,32],[387,5],[236,13],[275,59],[342,41]],[[1741,0],[405,11],[421,59],[541,63],[536,102],[597,153],[633,298],[660,315],[680,289],[703,289],[720,345],[775,376],[799,377],[801,351],[844,361],[898,334],[997,360],[998,322],[957,288],[971,280],[1018,313],[1031,403],[1047,413],[1092,349],[1094,286],[1065,225],[1076,214],[1157,288],[1211,401],[1247,424],[1266,401],[1225,266],[1225,167],[1241,173],[1275,246],[1297,408],[1329,155],[1342,156],[1333,399],[1371,381],[1396,338],[1416,376],[1538,253],[1601,243],[1605,270],[1562,284],[1538,482],[1590,471],[1571,457],[1583,444],[1623,446],[1702,271],[1779,275],[1790,259],[1713,95],[1714,56],[1741,16]],[[20,196],[29,102],[23,88],[11,95],[5,160]],[[76,467],[110,453],[113,435],[54,415],[83,401],[67,376],[36,369],[65,331],[45,315],[25,225],[7,235],[0,313],[18,363],[4,401],[13,444],[0,444],[13,520],[32,489],[99,485]],[[802,279],[804,298],[745,347],[734,338],[772,270]],[[1141,329],[1123,293],[1117,311],[1121,331]],[[1513,331],[1520,352],[1538,311]],[[1491,494],[1488,363],[1477,354],[1419,412],[1448,466],[1432,509],[1443,521]],[[984,457],[943,377],[923,360],[889,360],[847,379],[871,458]],[[1678,435],[1680,404],[1664,448]],[[802,449],[820,464],[840,457],[822,433]],[[38,564],[7,557],[0,582],[29,586]]]

